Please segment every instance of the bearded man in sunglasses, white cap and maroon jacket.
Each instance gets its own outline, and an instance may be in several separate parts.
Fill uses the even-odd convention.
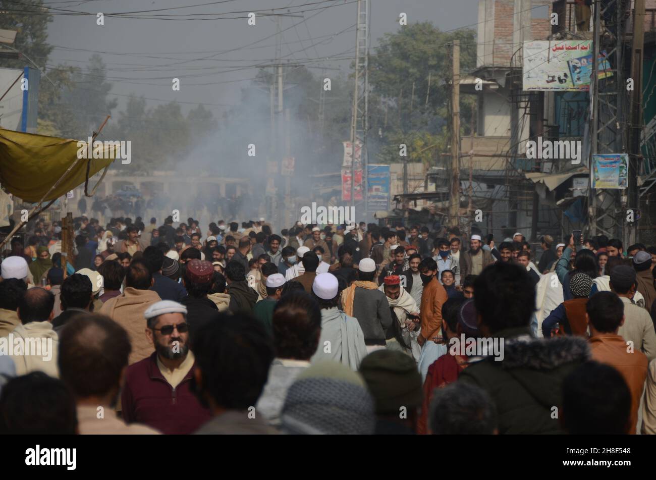
[[[189,350],[187,309],[171,300],[150,306],[146,337],[154,345],[150,357],[134,363],[125,372],[121,393],[123,419],[139,422],[162,433],[192,433],[211,418],[190,386],[194,354]]]

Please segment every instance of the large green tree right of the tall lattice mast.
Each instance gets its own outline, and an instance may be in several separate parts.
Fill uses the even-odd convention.
[[[444,126],[455,39],[461,41],[461,71],[472,70],[476,66],[473,30],[446,33],[422,22],[385,33],[379,39],[380,45],[369,60],[370,157],[395,161],[398,146],[404,143],[409,161],[435,163],[438,159],[447,144]],[[461,96],[462,125],[469,124],[471,109],[464,106],[470,101]]]

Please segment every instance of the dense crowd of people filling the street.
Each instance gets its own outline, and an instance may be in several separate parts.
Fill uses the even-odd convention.
[[[67,258],[59,222],[30,222],[0,264],[2,433],[656,433],[656,247],[73,230]]]

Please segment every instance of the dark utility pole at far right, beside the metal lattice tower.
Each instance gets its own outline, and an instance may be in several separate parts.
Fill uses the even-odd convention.
[[[640,171],[640,134],[642,132],[642,62],[645,43],[645,0],[635,0],[633,10],[633,47],[631,55],[631,78],[633,90],[630,92],[631,129],[628,150],[628,189],[626,207],[640,209],[640,190],[638,189],[638,172]],[[638,220],[626,222],[624,244],[636,243]]]

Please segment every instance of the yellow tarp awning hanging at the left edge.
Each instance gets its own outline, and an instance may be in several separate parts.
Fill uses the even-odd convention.
[[[77,161],[66,178],[45,197],[50,201],[84,183],[87,162],[91,162],[90,177],[113,162],[114,152],[110,153],[110,148],[103,149],[105,158],[91,160],[78,160],[78,150],[77,140],[0,128],[0,184],[24,201],[37,202]],[[89,191],[93,185],[90,182]]]

